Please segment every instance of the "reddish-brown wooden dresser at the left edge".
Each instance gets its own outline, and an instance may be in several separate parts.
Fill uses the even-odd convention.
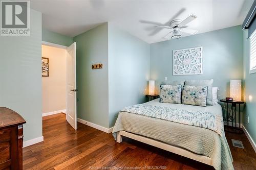
[[[0,107],[0,170],[22,169],[23,124],[18,113]]]

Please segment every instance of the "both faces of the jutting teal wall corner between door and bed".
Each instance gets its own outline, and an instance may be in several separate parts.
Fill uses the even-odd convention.
[[[113,23],[104,23],[73,41],[77,42],[77,117],[111,128],[120,109],[145,102],[150,44]],[[92,69],[97,63],[103,68]]]

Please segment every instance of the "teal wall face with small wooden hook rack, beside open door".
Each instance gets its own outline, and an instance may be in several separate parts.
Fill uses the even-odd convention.
[[[73,38],[77,42],[77,117],[109,127],[108,23]],[[102,69],[92,64],[102,63]]]

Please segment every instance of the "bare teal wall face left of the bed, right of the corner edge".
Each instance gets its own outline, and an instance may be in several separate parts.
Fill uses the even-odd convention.
[[[149,78],[150,44],[109,22],[110,127],[122,108],[145,102]]]

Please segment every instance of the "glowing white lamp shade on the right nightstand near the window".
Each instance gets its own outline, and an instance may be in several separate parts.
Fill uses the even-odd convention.
[[[241,80],[230,80],[230,97],[234,101],[241,101],[242,85]]]

